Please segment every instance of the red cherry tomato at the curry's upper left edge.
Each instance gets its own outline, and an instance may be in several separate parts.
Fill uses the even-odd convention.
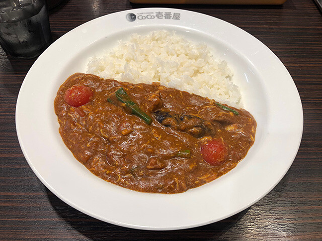
[[[66,90],[64,100],[67,104],[79,107],[90,102],[93,90],[85,85],[73,85]]]

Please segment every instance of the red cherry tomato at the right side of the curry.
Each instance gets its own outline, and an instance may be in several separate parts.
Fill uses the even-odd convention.
[[[210,165],[219,166],[227,157],[227,148],[221,140],[212,140],[201,146],[202,158]]]

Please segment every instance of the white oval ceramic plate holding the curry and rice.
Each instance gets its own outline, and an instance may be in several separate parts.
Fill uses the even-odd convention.
[[[160,29],[175,30],[187,39],[215,48],[216,55],[234,70],[245,108],[258,124],[255,144],[236,168],[181,194],[140,193],[94,176],[62,142],[53,106],[59,86],[71,74],[85,72],[90,56],[115,46],[132,33]],[[219,221],[264,197],[296,156],[303,113],[290,74],[256,38],[207,15],[151,8],[103,16],[54,42],[34,63],[21,86],[16,127],[32,170],[61,200],[109,223],[170,230]]]

